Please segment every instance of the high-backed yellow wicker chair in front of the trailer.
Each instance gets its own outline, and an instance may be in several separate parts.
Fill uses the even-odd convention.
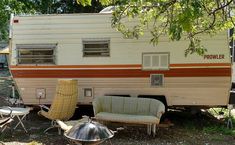
[[[59,134],[61,130],[56,123],[56,119],[67,121],[69,120],[76,109],[78,98],[78,82],[77,80],[60,79],[56,87],[56,95],[53,98],[53,102],[50,108],[40,105],[41,110],[38,112],[51,120],[51,126],[47,128],[44,132],[49,129],[58,128]]]

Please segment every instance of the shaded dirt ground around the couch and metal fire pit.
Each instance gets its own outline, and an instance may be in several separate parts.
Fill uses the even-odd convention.
[[[87,113],[89,114],[89,112],[90,110]],[[79,111],[76,112],[76,115],[72,119],[76,120],[81,117]],[[192,115],[189,112],[169,111],[164,118],[170,120],[174,125],[160,127],[155,137],[147,135],[145,126],[107,124],[108,128],[112,130],[118,127],[124,129],[118,131],[110,140],[104,141],[102,145],[235,145],[235,136],[233,135],[224,135],[220,132],[208,134],[203,131],[203,128],[208,125],[221,126],[225,123],[208,115]],[[0,135],[0,140],[6,145],[72,144],[63,135],[58,135],[56,129],[50,130],[47,134],[43,133],[50,125],[50,121],[38,116],[37,110],[30,112],[27,119],[24,120],[24,124],[29,131],[28,134],[24,133],[20,127],[16,130],[8,129]]]

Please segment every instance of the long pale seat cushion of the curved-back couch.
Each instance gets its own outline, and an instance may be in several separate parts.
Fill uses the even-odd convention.
[[[131,115],[100,112],[96,114],[96,119],[111,122],[136,123],[136,124],[158,124],[159,119],[151,115]]]

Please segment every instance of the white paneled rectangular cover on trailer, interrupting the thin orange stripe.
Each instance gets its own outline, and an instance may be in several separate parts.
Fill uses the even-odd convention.
[[[143,70],[166,70],[169,69],[169,53],[143,53]]]

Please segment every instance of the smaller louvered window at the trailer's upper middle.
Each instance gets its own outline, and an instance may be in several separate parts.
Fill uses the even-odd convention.
[[[83,56],[110,56],[110,40],[83,40]]]

